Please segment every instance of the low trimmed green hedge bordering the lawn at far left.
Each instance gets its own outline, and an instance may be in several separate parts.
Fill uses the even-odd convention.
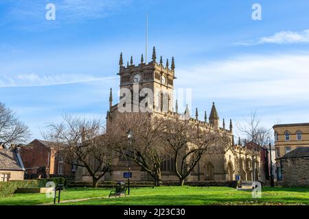
[[[17,188],[42,188],[45,187],[48,181],[53,181],[56,185],[64,184],[65,178],[55,177],[50,179],[0,182],[0,197],[6,197],[14,194]]]

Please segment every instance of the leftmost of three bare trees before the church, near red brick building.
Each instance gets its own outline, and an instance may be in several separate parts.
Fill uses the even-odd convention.
[[[51,123],[45,139],[54,142],[68,164],[84,167],[92,177],[93,188],[111,166],[113,142],[100,120],[63,116],[60,124]]]

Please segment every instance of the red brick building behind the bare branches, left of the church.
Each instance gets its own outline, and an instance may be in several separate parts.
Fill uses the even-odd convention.
[[[67,164],[52,142],[33,140],[21,148],[21,159],[27,178],[52,176],[74,177],[76,166]]]

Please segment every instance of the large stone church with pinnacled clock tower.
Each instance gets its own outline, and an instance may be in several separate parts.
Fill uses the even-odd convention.
[[[231,181],[243,180],[251,181],[261,178],[260,172],[260,155],[256,151],[246,149],[240,144],[234,143],[233,125],[229,120],[229,127],[226,128],[225,119],[222,120],[220,126],[220,118],[216,110],[216,105],[213,103],[209,118],[198,120],[198,111],[196,108],[195,118],[191,118],[189,109],[186,108],[183,114],[178,112],[177,100],[174,100],[174,80],[175,63],[172,57],[171,65],[168,60],[163,64],[162,57],[157,62],[155,47],[152,51],[151,62],[145,63],[144,57],[141,55],[140,63],[133,64],[133,57],[130,57],[130,62],[124,66],[122,53],[119,58],[119,75],[120,79],[120,95],[119,103],[113,105],[113,94],[111,90],[109,98],[109,110],[106,116],[106,123],[113,123],[113,120],[121,118],[121,115],[126,112],[136,112],[141,105],[141,97],[149,95],[148,101],[144,103],[144,108],[153,115],[168,116],[176,118],[178,116],[186,116],[186,119],[191,123],[199,123],[203,129],[211,129],[220,133],[225,133],[229,137],[229,145],[225,146],[225,153],[214,157],[212,155],[203,155],[202,159],[196,165],[196,168],[187,177],[187,181]],[[143,95],[143,90],[146,90]],[[141,94],[142,93],[142,94]],[[124,103],[124,97],[130,96],[133,101],[132,105]],[[135,97],[134,97],[135,96]],[[137,96],[137,98],[136,98]],[[128,98],[126,98],[128,99]],[[149,101],[150,100],[150,101]],[[175,106],[173,105],[175,103]],[[145,110],[143,109],[143,110]],[[131,164],[130,171],[132,181],[152,181],[152,177],[147,172],[141,170],[137,165]],[[104,175],[104,181],[125,181],[124,172],[128,172],[128,160],[119,158],[113,162],[111,170]],[[172,159],[166,159],[161,166],[163,181],[178,181],[174,173],[174,163]],[[78,171],[78,181],[91,181],[91,177],[87,175],[87,171]]]

